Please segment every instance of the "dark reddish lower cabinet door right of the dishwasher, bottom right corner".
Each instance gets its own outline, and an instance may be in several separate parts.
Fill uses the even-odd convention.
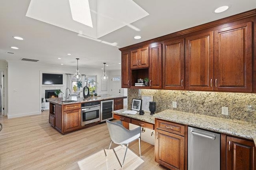
[[[226,170],[256,170],[254,142],[227,136]]]

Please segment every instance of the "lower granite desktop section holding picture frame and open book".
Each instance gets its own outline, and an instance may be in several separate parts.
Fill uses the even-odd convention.
[[[122,112],[127,111],[127,110],[129,110],[129,109],[120,109],[120,110],[116,110],[116,111],[112,111],[112,112],[116,115],[121,115],[124,117],[137,119],[139,121],[144,121],[144,122],[155,124],[155,118],[152,115],[150,115],[150,112],[144,112],[144,115],[140,115],[139,113],[137,113],[136,115],[122,114]]]

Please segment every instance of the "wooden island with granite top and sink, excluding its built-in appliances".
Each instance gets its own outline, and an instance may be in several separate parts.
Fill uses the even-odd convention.
[[[46,99],[50,102],[49,123],[62,134],[91,127],[97,125],[100,121],[95,121],[82,126],[81,105],[90,102],[100,103],[101,101],[114,100],[114,108],[112,109],[118,110],[123,108],[123,99],[125,98],[127,97],[120,95],[101,95],[88,98],[77,98],[76,101],[62,101],[62,98]]]

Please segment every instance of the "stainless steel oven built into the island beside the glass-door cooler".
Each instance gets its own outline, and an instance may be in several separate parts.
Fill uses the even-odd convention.
[[[100,101],[92,101],[81,104],[82,126],[100,121]]]

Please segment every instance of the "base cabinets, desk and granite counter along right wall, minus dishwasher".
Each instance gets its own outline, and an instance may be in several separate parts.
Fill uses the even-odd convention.
[[[187,169],[188,126],[190,126],[220,133],[220,148],[216,149],[220,149],[221,170],[228,170],[231,167],[232,169],[256,169],[256,125],[254,123],[169,109],[154,115],[122,114],[126,110],[113,111],[114,118],[125,122],[126,128],[129,128],[127,123],[135,124],[132,120],[154,125],[155,160],[166,168]]]

